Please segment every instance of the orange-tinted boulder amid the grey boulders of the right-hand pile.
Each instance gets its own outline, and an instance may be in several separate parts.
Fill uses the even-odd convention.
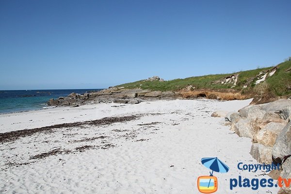
[[[264,146],[274,146],[277,136],[284,127],[284,123],[268,123],[264,128],[259,130],[258,134],[256,135],[256,142]]]

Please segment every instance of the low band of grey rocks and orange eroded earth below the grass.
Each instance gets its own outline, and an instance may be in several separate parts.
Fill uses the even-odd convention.
[[[143,101],[153,100],[173,100],[173,99],[195,99],[208,98],[217,100],[235,100],[247,99],[246,95],[242,95],[234,90],[183,90],[173,91],[151,91],[137,89],[126,89],[124,87],[110,87],[98,92],[85,94],[72,93],[67,97],[51,98],[47,104],[49,106],[80,106],[85,104],[99,103],[124,103],[138,104]]]

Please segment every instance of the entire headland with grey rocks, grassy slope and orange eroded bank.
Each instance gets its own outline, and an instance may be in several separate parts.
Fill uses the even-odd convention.
[[[157,99],[234,100],[254,98],[252,104],[291,97],[291,60],[272,67],[231,74],[216,74],[164,81],[158,76],[124,83],[83,95],[50,99],[51,106],[73,106],[92,103],[139,103]]]

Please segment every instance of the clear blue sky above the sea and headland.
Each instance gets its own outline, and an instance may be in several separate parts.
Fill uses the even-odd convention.
[[[291,0],[0,0],[0,90],[107,88],[277,65]]]

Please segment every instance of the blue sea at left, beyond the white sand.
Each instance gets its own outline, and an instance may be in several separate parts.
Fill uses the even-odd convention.
[[[0,90],[0,114],[47,109],[50,98],[66,97],[71,93],[85,94],[102,89],[65,90]]]

